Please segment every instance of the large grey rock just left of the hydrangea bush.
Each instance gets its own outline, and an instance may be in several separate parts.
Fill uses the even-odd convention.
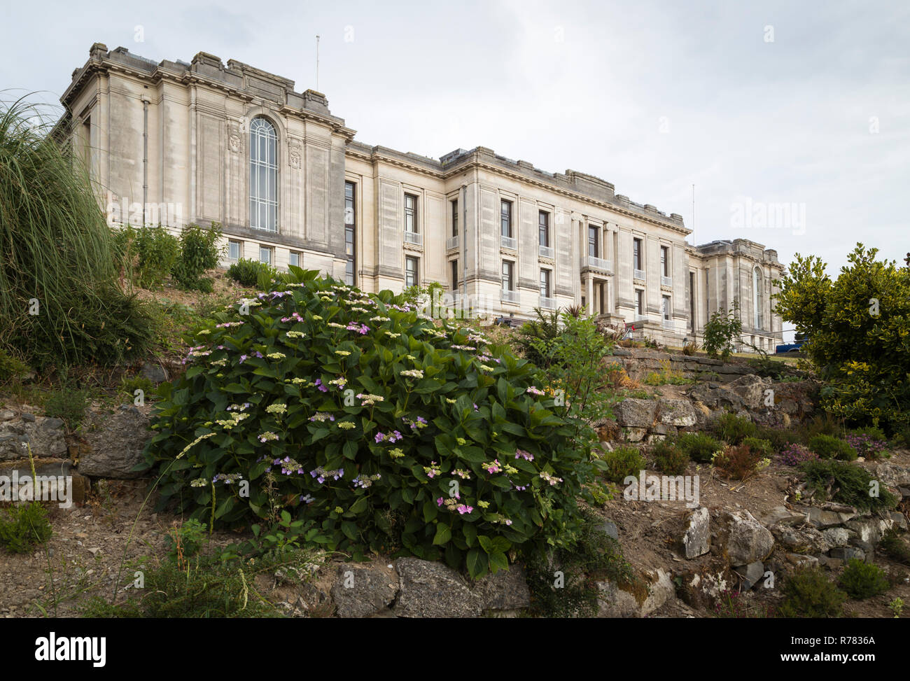
[[[86,429],[89,451],[79,458],[79,473],[128,480],[142,473],[131,469],[144,461],[142,451],[152,436],[148,417],[136,407],[123,405],[113,414],[93,414],[96,428]]]

